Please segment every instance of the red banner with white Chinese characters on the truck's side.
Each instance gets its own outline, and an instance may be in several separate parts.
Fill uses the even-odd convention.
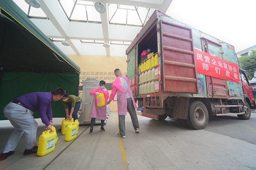
[[[238,66],[229,61],[215,57],[210,53],[194,49],[196,72],[239,83]]]

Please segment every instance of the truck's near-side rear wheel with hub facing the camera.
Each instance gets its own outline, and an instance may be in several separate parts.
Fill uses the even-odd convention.
[[[204,129],[208,124],[208,110],[203,102],[192,101],[188,106],[188,120],[186,120],[189,127],[199,130]]]

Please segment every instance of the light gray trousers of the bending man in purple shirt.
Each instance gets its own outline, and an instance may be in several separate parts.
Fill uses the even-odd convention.
[[[14,131],[9,137],[4,151],[14,151],[17,147],[20,137],[25,135],[25,148],[32,149],[36,146],[36,131],[37,131],[37,122],[32,116],[34,112],[29,109],[26,109],[18,104],[9,103],[4,108],[4,116],[9,119]]]

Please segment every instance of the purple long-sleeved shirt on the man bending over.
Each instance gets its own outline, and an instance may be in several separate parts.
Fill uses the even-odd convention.
[[[42,122],[49,126],[49,120],[52,120],[52,92],[33,92],[20,96],[15,101],[23,104],[27,109],[35,112],[39,110],[39,116]]]

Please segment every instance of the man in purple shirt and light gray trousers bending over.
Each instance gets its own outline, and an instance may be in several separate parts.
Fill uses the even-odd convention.
[[[4,108],[4,116],[9,119],[14,131],[9,137],[4,151],[0,155],[0,161],[8,158],[14,153],[20,137],[25,135],[26,149],[23,155],[37,152],[36,131],[37,122],[32,116],[39,111],[42,122],[47,126],[46,131],[52,131],[52,101],[58,101],[65,95],[62,88],[54,89],[52,92],[33,92],[20,96],[7,104]]]

